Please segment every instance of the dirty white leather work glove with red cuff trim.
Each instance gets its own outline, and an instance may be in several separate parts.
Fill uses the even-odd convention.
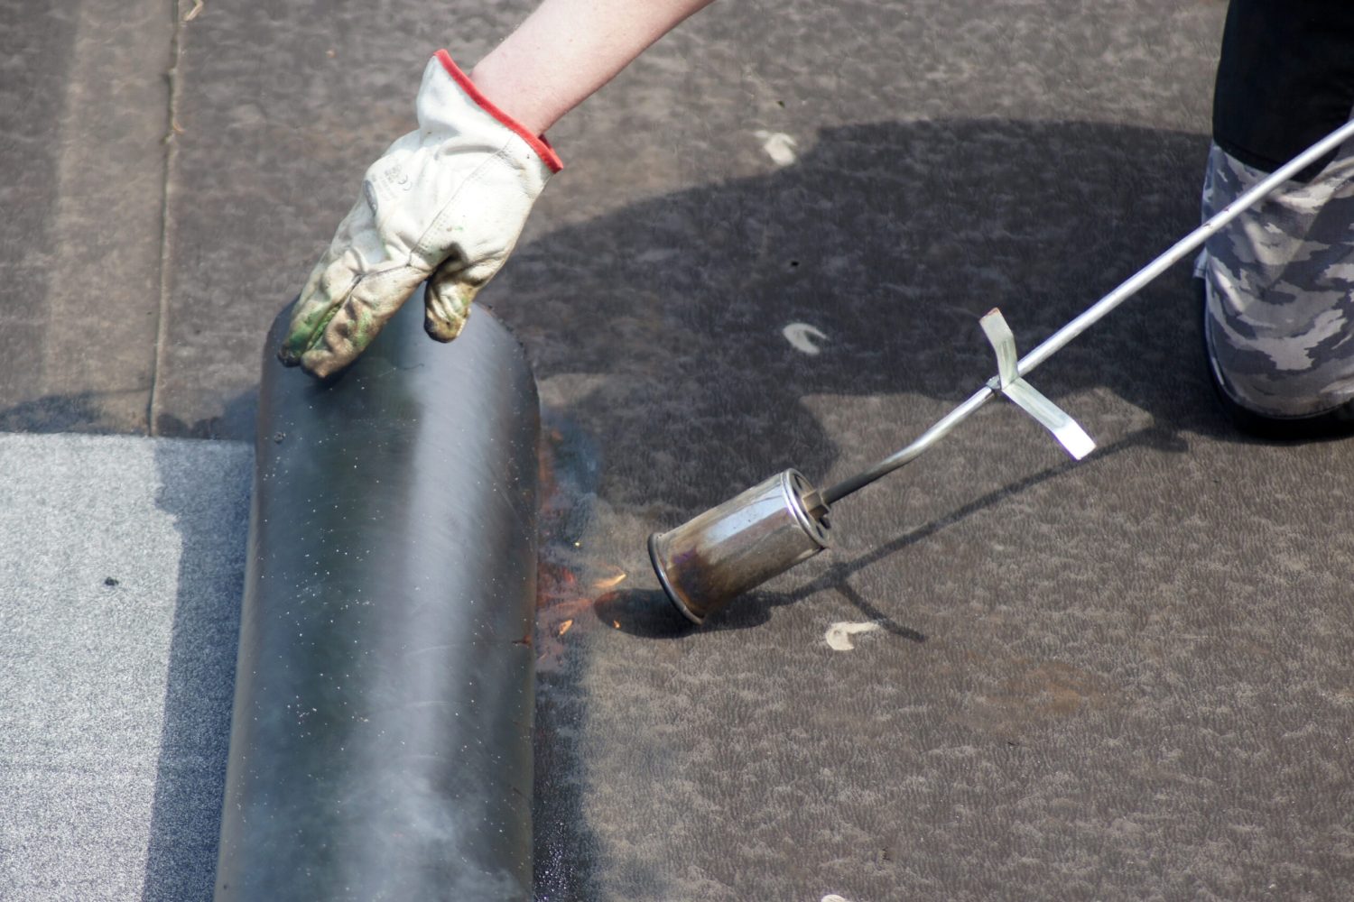
[[[445,50],[428,61],[418,130],[367,169],[362,199],[306,280],[279,357],[315,376],[357,358],[428,280],[424,329],[451,341],[562,169],[471,84]]]

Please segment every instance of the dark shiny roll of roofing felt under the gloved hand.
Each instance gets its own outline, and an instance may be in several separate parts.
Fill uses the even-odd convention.
[[[536,389],[421,307],[328,384],[268,338],[218,902],[531,898]]]

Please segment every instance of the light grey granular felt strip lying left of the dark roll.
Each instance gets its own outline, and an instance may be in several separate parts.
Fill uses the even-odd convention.
[[[0,898],[210,898],[252,461],[0,435]]]

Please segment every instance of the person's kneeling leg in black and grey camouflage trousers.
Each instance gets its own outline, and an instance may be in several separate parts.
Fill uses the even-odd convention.
[[[1204,215],[1354,108],[1354,3],[1232,0]],[[1219,395],[1273,437],[1354,431],[1354,142],[1213,235],[1197,275]]]

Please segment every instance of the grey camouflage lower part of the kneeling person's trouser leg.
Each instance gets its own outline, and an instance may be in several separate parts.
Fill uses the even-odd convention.
[[[1209,238],[1204,335],[1223,391],[1265,417],[1354,400],[1354,142],[1307,184],[1290,181]],[[1204,218],[1267,173],[1216,143]]]

